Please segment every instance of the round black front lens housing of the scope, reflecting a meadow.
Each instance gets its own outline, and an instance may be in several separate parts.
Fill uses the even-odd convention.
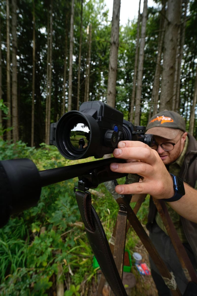
[[[55,132],[53,141],[56,141],[59,152],[67,159],[88,157],[89,151],[95,149],[100,138],[95,119],[79,111],[65,113],[57,123],[51,125],[51,132]]]

